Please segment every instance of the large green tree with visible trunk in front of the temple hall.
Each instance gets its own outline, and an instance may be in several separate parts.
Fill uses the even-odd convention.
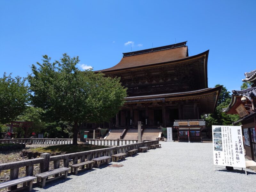
[[[51,63],[43,56],[43,62],[32,65],[28,76],[32,104],[46,111],[48,119],[73,122],[73,144],[77,144],[77,132],[82,122],[103,122],[114,116],[124,104],[126,89],[119,78],[104,77],[92,70],[76,68],[78,57],[66,53],[60,61]]]

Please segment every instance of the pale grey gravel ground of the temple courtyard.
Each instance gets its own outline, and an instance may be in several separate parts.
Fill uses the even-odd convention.
[[[212,143],[160,142],[162,148],[111,162],[123,167],[93,168],[33,191],[254,191],[256,172],[216,167]],[[239,168],[238,168],[239,169]],[[254,188],[254,189],[253,189]]]

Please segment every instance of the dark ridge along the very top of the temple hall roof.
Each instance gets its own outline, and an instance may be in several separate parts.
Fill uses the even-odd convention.
[[[183,46],[186,46],[187,42],[188,41],[184,41],[184,42],[181,42],[181,43],[165,45],[165,46],[161,46],[161,47],[154,47],[154,48],[151,48],[151,49],[143,49],[143,50],[140,50],[140,51],[126,52],[126,53],[123,53],[123,57],[128,57],[128,56],[133,56],[133,55],[139,55],[139,54],[144,54],[144,53],[150,53],[150,52],[163,51],[163,50],[167,50],[167,49],[174,49],[174,48],[178,48],[178,47],[183,47]]]

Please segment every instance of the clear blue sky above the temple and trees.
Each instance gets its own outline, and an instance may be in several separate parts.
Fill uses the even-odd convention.
[[[208,84],[240,90],[256,69],[256,1],[0,0],[0,75],[27,76],[47,54],[79,56],[94,70],[122,52],[188,41],[189,55],[210,49]],[[134,42],[125,45],[127,42]],[[80,69],[82,69],[78,66]]]

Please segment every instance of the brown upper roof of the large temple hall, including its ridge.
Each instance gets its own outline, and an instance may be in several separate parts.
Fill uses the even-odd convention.
[[[186,46],[186,42],[182,42],[179,44],[123,54],[123,58],[115,66],[95,72],[108,72],[125,68],[141,67],[151,64],[182,60],[188,58],[188,47]]]

